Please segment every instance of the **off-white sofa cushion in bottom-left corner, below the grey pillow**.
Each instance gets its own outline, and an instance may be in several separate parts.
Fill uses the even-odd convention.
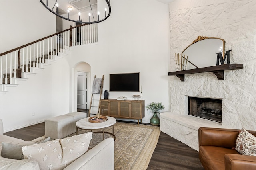
[[[40,170],[36,161],[0,160],[1,170]]]

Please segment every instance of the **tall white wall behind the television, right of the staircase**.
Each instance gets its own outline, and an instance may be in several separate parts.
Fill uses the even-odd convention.
[[[91,84],[94,75],[104,74],[104,90],[109,90],[109,74],[140,72],[145,105],[162,102],[168,111],[168,5],[152,0],[112,0],[111,8],[110,17],[98,23],[98,43],[72,47],[68,62],[71,66],[78,61],[90,64]],[[133,99],[133,94],[139,92],[109,92],[109,98]],[[149,123],[152,113],[145,112],[142,121]]]

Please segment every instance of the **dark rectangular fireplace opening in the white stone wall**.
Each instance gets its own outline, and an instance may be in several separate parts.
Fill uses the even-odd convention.
[[[188,97],[188,114],[222,123],[222,100]]]

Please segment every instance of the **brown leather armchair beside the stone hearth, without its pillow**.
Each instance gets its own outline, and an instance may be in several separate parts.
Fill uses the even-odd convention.
[[[239,129],[200,127],[199,159],[206,170],[256,170],[256,156],[241,155],[234,148]],[[256,131],[248,131],[256,136]]]

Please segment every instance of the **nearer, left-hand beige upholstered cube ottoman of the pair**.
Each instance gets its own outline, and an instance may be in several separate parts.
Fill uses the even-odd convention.
[[[45,137],[61,139],[74,133],[74,117],[60,115],[45,120]]]

